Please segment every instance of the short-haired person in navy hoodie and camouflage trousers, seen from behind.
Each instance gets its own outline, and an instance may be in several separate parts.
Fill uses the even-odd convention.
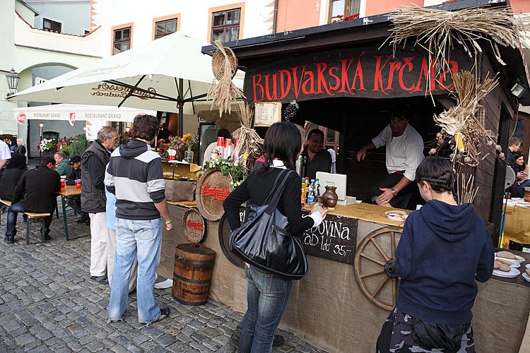
[[[493,244],[473,204],[454,201],[449,160],[425,158],[416,183],[427,203],[408,215],[399,239],[399,295],[377,352],[473,353],[471,308],[476,281],[493,273]]]

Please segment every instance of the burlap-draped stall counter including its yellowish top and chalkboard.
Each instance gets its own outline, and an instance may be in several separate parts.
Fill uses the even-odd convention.
[[[170,214],[182,220],[194,203],[172,203]],[[372,352],[384,319],[389,311],[381,309],[363,294],[355,280],[355,249],[378,229],[394,227],[401,222],[389,220],[387,208],[361,203],[337,206],[318,229],[304,234],[305,250],[309,254],[309,274],[293,282],[288,307],[280,327],[295,333],[303,340],[329,352]],[[247,309],[247,284],[242,268],[223,256],[219,237],[220,221],[208,221],[208,235],[204,246],[216,251],[210,283],[210,297],[244,313]],[[182,224],[168,233],[164,231],[162,261],[158,274],[172,278],[175,246],[187,242]],[[399,240],[399,238],[398,238]],[[377,239],[389,253],[389,242]],[[365,248],[367,253],[383,261],[377,250]],[[525,254],[530,261],[530,255]],[[526,262],[530,263],[530,262]],[[524,265],[524,264],[523,264]],[[361,272],[376,270],[363,268]],[[386,275],[369,278],[367,289],[373,292]],[[386,285],[376,296],[390,304],[391,285]],[[519,352],[530,312],[530,283],[524,280],[504,280],[493,277],[479,283],[478,297],[473,307],[473,329],[477,352]]]

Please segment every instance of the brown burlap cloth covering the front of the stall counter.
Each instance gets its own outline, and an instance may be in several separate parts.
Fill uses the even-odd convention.
[[[182,219],[185,210],[184,207],[170,206],[170,214],[175,220]],[[358,243],[380,227],[383,225],[360,220]],[[171,234],[164,232],[159,275],[172,277],[175,246],[184,242],[179,226]],[[247,309],[245,275],[220,250],[218,222],[208,221],[208,237],[204,245],[216,251],[210,297],[244,313]],[[280,327],[329,352],[374,352],[389,312],[379,309],[360,292],[352,265],[314,256],[307,258],[310,273],[294,282]],[[476,351],[519,352],[529,311],[529,287],[495,279],[479,284],[473,308]]]

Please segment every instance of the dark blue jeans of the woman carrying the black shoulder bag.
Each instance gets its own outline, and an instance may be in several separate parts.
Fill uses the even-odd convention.
[[[247,312],[239,340],[240,353],[272,351],[274,333],[293,287],[290,280],[245,266],[248,281]]]

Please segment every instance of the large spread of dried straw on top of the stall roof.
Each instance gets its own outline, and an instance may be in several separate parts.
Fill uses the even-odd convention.
[[[479,40],[490,43],[495,59],[505,65],[497,44],[522,48],[530,39],[529,16],[514,16],[507,6],[497,8],[464,8],[443,11],[435,8],[403,7],[392,13],[391,35],[386,42],[394,47],[405,46],[406,40],[416,37],[415,45],[428,51],[429,68],[438,73],[449,69],[449,58],[455,44],[460,44],[471,58],[482,52]],[[427,80],[427,89],[430,82]]]

